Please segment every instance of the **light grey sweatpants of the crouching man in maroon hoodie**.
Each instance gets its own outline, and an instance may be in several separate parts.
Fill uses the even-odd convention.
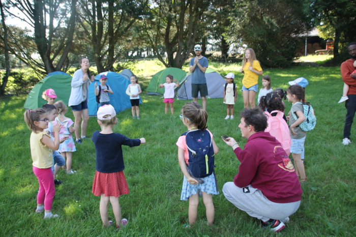
[[[227,182],[223,187],[223,193],[226,199],[234,204],[236,208],[262,221],[274,219],[285,222],[285,219],[295,213],[301,204],[301,201],[290,203],[272,202],[260,190],[253,188],[251,185],[247,187],[249,192],[244,193],[244,188],[239,188],[233,182]]]

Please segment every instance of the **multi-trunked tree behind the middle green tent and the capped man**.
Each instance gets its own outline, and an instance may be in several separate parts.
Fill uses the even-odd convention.
[[[145,19],[138,32],[167,68],[182,68],[202,34],[201,18],[209,5],[210,1],[205,0],[152,1],[149,7],[153,17]],[[160,54],[162,44],[167,61]]]

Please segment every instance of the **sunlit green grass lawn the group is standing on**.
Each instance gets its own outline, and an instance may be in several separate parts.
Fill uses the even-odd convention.
[[[148,61],[147,61],[148,62]],[[151,62],[153,63],[153,62]],[[235,73],[235,83],[241,88],[239,65],[211,64],[220,73]],[[136,68],[144,68],[137,64]],[[144,78],[144,71],[133,72]],[[303,196],[299,210],[281,234],[286,236],[353,236],[356,233],[356,131],[351,131],[351,144],[341,144],[346,114],[344,104],[338,104],[342,94],[339,67],[300,66],[285,70],[268,69],[264,74],[272,78],[273,88],[288,88],[288,81],[298,77],[309,80],[306,98],[315,109],[316,128],[306,139],[306,174],[309,182],[302,185]],[[141,83],[149,82],[142,80]],[[261,86],[261,82],[259,82]],[[224,120],[226,106],[222,99],[209,99],[208,126],[215,136],[220,152],[216,156],[216,173],[220,194],[213,197],[215,224],[205,225],[205,208],[200,199],[197,224],[190,230],[182,225],[188,222],[188,201],[181,201],[183,174],[177,162],[177,138],[186,131],[179,119],[180,108],[187,102],[174,102],[174,115],[164,114],[163,100],[159,96],[142,95],[141,120],[131,119],[131,110],[117,114],[120,123],[114,132],[130,138],[145,137],[147,143],[138,147],[123,147],[125,175],[130,194],[120,197],[123,218],[129,220],[126,228],[104,229],[99,213],[99,200],[92,194],[95,174],[95,148],[91,140],[77,145],[73,154],[75,175],[63,171],[56,187],[53,213],[58,219],[43,220],[35,214],[38,182],[32,172],[29,135],[23,121],[25,95],[1,98],[0,142],[0,228],[2,236],[274,236],[259,228],[259,222],[235,208],[222,194],[224,183],[232,181],[238,172],[239,161],[219,137],[228,134],[242,147],[239,111],[243,101],[238,90],[235,119]],[[285,101],[286,111],[291,104]],[[73,119],[71,112],[67,115]],[[87,134],[99,130],[96,118],[89,122]],[[113,219],[109,207],[109,218]]]

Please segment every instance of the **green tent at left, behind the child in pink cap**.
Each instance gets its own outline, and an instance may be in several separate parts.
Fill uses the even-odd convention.
[[[42,93],[52,88],[57,95],[56,101],[63,100],[68,105],[69,96],[71,94],[72,76],[66,74],[52,74],[40,80],[29,92],[24,108],[36,109],[41,108],[47,101],[42,99]]]

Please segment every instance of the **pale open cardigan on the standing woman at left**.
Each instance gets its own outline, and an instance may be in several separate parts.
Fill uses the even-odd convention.
[[[86,81],[83,81],[83,70],[78,69],[77,71],[75,71],[75,73],[73,74],[73,78],[72,78],[72,90],[71,90],[71,95],[69,97],[69,101],[68,101],[68,106],[72,106],[72,105],[78,105],[81,102],[84,101],[83,98],[83,93],[82,93],[82,86],[84,83],[87,83],[87,86],[89,87],[89,85],[92,83],[90,81],[90,78],[88,78]],[[89,97],[89,90],[87,90],[86,93],[86,101],[88,100]]]

